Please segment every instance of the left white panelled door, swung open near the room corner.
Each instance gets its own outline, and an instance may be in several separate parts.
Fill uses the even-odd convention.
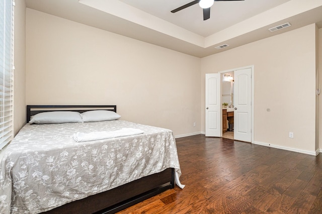
[[[206,136],[221,137],[220,74],[206,74]]]

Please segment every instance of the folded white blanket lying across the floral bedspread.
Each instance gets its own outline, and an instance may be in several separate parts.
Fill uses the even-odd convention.
[[[84,142],[84,141],[96,141],[108,138],[118,138],[130,135],[139,135],[144,132],[140,129],[133,128],[122,128],[116,131],[103,131],[103,132],[90,132],[90,133],[81,133],[77,132],[73,134],[72,138],[76,142]]]

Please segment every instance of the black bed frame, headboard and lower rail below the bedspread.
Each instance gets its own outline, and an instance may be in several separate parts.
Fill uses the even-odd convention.
[[[109,110],[116,112],[116,105],[27,105],[27,123],[31,116],[52,111],[86,112]],[[175,187],[175,171],[168,168],[116,188],[66,203],[43,213],[115,213],[129,206]]]

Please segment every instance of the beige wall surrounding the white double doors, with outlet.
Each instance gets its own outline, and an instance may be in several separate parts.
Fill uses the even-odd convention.
[[[315,153],[315,31],[313,24],[202,58],[201,110],[206,73],[254,65],[255,143]]]

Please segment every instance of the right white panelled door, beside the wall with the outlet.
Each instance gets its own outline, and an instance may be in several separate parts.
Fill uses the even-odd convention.
[[[234,71],[234,140],[252,142],[252,69]]]

